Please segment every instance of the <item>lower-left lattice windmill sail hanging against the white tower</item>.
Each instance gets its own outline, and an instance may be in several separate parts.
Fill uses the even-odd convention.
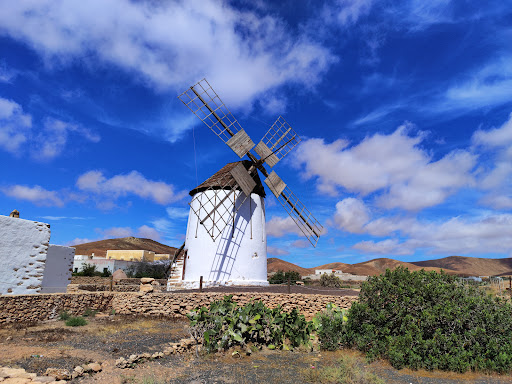
[[[215,179],[210,186],[207,185],[209,181],[210,179],[203,183],[206,184],[206,188],[201,191],[202,193],[196,193],[189,205],[199,223],[215,241],[228,225],[234,227],[235,215],[247,199],[247,195],[240,190],[240,186],[230,173]]]

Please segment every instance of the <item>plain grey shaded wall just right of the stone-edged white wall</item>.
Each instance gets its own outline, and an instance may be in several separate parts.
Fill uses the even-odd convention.
[[[75,248],[49,245],[41,293],[66,292],[71,282],[74,258]]]

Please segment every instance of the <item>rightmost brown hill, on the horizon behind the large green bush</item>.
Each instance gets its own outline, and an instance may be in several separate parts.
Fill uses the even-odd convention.
[[[484,259],[479,257],[449,256],[437,260],[415,261],[419,267],[437,267],[453,270],[460,275],[495,276],[512,274],[512,258]]]

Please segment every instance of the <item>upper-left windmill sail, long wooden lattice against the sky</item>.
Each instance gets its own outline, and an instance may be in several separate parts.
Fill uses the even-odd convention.
[[[240,158],[254,147],[254,142],[206,79],[178,98]]]

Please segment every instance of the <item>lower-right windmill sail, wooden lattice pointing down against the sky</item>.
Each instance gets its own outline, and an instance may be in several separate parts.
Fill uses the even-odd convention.
[[[323,231],[320,222],[315,219],[313,214],[274,171],[265,179],[265,184],[267,184],[274,196],[277,197],[277,200],[288,212],[288,215],[297,224],[304,236],[306,236],[313,247],[316,247]]]

